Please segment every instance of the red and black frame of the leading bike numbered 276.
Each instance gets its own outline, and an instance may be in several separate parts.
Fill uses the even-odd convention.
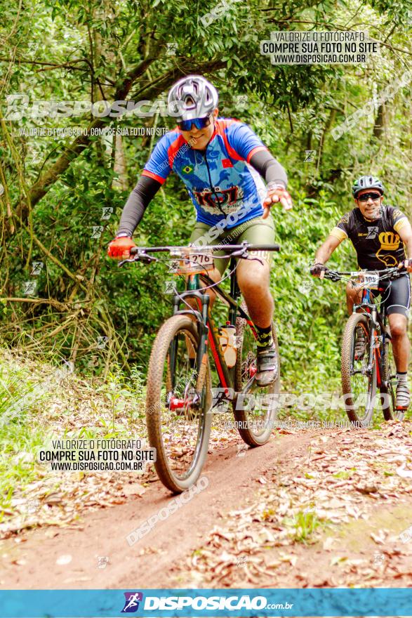
[[[231,258],[230,269],[232,270],[233,267],[234,258]],[[228,320],[230,324],[236,324],[236,318],[238,316],[243,317],[251,328],[251,331],[255,338],[257,338],[257,334],[255,328],[253,327],[253,322],[251,318],[237,303],[241,293],[234,272],[230,277],[230,294],[227,294],[225,290],[216,285],[215,282],[213,282],[213,280],[211,280],[211,278],[208,277],[207,274],[197,274],[189,275],[187,280],[187,289],[181,294],[176,294],[173,297],[173,315],[192,314],[195,315],[197,318],[197,324],[200,329],[200,341],[199,348],[197,350],[197,367],[199,368],[199,372],[202,364],[206,367],[207,350],[208,346],[210,346],[213,360],[215,362],[215,367],[218,372],[220,386],[223,389],[222,394],[224,395],[225,399],[232,400],[237,394],[234,393],[234,367],[227,367],[227,364],[225,362],[225,358],[222,354],[222,350],[219,344],[219,331],[218,328],[215,326],[215,322],[213,320],[213,317],[211,316],[209,308],[209,296],[199,290],[200,280],[206,285],[213,284],[214,293],[220,298],[221,301],[229,305]],[[187,300],[187,298],[195,298],[199,305],[199,310],[179,309],[182,300]],[[173,351],[171,350],[171,362],[173,360],[172,354]]]

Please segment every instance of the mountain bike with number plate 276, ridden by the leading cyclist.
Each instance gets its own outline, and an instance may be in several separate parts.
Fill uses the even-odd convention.
[[[230,294],[208,276],[213,253],[230,259]],[[279,251],[279,245],[158,246],[133,248],[131,258],[119,263],[164,261],[186,280],[178,293],[174,286],[173,315],[161,326],[152,347],[147,372],[146,420],[149,444],[157,449],[154,464],[163,484],[182,492],[197,481],[206,461],[213,412],[231,402],[234,426],[251,447],[265,444],[274,426],[280,367],[269,386],[255,381],[257,334],[247,308],[241,303],[236,279],[237,259],[259,259],[251,251]],[[169,254],[161,258],[161,254]],[[173,282],[172,282],[173,283]],[[201,286],[203,283],[203,287]],[[209,296],[214,293],[228,307],[227,322],[216,327]],[[277,349],[277,335],[272,323]],[[211,360],[219,388],[212,392]]]

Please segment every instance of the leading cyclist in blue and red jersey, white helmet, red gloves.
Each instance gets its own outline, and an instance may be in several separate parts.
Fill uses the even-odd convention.
[[[177,81],[168,94],[168,108],[177,117],[178,126],[154,147],[124,206],[109,256],[128,258],[135,246],[133,232],[171,171],[185,183],[196,209],[192,244],[244,240],[273,244],[270,208],[277,202],[284,210],[292,207],[281,164],[246,124],[218,117],[218,92],[204,77],[189,75]],[[258,333],[256,380],[267,386],[276,379],[278,366],[271,330],[271,254],[263,252],[258,257],[260,260],[240,261],[237,280]],[[215,281],[220,280],[227,262],[215,259]]]

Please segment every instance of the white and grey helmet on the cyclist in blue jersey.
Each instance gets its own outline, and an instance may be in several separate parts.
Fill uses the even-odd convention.
[[[218,106],[218,91],[201,75],[176,81],[168,93],[168,111],[178,120],[206,118]]]

